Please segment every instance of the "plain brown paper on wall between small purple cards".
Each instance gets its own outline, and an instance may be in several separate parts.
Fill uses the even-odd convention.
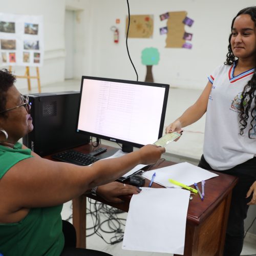
[[[167,20],[168,33],[166,37],[166,48],[182,48],[185,44],[184,33],[185,24],[183,23],[187,12],[169,12],[169,18]]]

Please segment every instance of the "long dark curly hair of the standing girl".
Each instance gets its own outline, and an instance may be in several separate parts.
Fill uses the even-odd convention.
[[[253,6],[253,7],[244,8],[238,12],[236,17],[234,17],[232,20],[231,31],[233,28],[234,20],[241,14],[249,14],[251,17],[251,20],[254,22],[255,27],[256,27],[256,6]],[[236,58],[236,56],[234,56],[232,49],[231,49],[231,44],[230,44],[231,36],[232,36],[232,33],[229,35],[229,38],[228,38],[229,45],[228,45],[228,53],[226,55],[226,57],[227,57],[226,62],[224,62],[225,65],[232,65],[234,62],[238,61],[238,59]],[[255,58],[256,58],[256,56],[255,56]],[[244,135],[244,129],[246,128],[247,123],[248,123],[249,110],[251,108],[252,101],[256,105],[255,93],[256,93],[256,69],[254,69],[254,73],[251,77],[251,80],[248,81],[248,83],[245,85],[243,92],[242,92],[242,97],[241,97],[241,102],[240,102],[240,113],[239,113],[239,118],[240,118],[239,122],[241,124],[240,125],[240,135]],[[254,114],[253,114],[253,112],[254,112]],[[251,138],[250,131],[253,129],[252,122],[254,119],[256,120],[256,106],[254,106],[254,108],[251,110],[250,116],[252,119],[250,121],[250,129],[248,131],[249,138]]]

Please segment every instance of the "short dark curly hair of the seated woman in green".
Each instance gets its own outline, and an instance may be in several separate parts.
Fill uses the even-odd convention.
[[[7,69],[0,70],[0,112],[5,110],[6,106],[6,92],[9,90],[13,83],[16,81],[16,77],[12,75]],[[0,114],[2,116],[5,113]]]

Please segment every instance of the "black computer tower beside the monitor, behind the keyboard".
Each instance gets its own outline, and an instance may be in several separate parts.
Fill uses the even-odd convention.
[[[76,132],[79,96],[77,91],[29,94],[34,129],[23,144],[46,156],[87,144],[90,137]]]

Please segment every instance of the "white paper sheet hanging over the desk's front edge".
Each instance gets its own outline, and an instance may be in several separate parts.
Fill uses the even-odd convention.
[[[133,195],[122,248],[183,254],[189,195],[173,188],[142,188]]]

